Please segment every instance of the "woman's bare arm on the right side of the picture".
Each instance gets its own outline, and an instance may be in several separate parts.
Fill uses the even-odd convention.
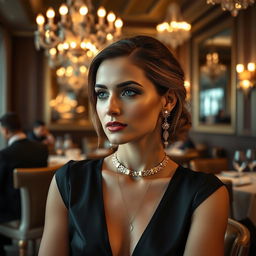
[[[184,256],[223,256],[228,191],[222,186],[195,210]]]

